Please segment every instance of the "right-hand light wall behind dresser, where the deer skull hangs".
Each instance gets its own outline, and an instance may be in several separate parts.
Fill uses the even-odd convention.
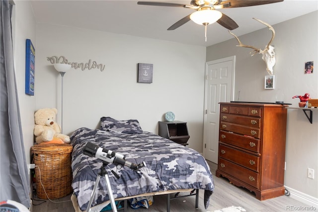
[[[266,20],[264,20],[266,21]],[[207,48],[207,61],[236,55],[235,101],[284,101],[298,107],[295,95],[310,93],[318,99],[318,70],[304,74],[305,62],[318,64],[318,12],[312,12],[273,25],[276,36],[275,89],[264,90],[265,63],[261,55],[250,56],[252,49],[236,47],[237,40],[219,43]],[[235,33],[235,30],[234,30]],[[264,48],[271,38],[268,28],[239,36],[242,43]],[[316,201],[318,198],[318,109],[313,111],[311,124],[301,109],[288,109],[286,139],[285,186],[304,193]],[[307,169],[315,170],[315,179],[307,178]]]

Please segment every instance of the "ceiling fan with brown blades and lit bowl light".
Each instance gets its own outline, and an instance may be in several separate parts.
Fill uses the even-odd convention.
[[[191,0],[190,4],[180,3],[168,3],[168,2],[156,2],[156,1],[138,1],[141,5],[150,6],[175,6],[184,7],[197,10],[184,18],[178,20],[171,25],[167,30],[174,30],[179,26],[182,26],[189,20],[193,20],[198,24],[207,26],[208,24],[218,22],[229,30],[233,30],[239,27],[239,25],[226,14],[216,10],[222,8],[234,8],[243,6],[255,6],[261,4],[276,3],[283,0]]]

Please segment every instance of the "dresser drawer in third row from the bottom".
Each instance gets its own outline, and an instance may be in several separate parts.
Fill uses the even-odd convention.
[[[220,130],[219,141],[238,146],[253,152],[259,152],[259,139],[249,136],[238,135],[233,132]]]

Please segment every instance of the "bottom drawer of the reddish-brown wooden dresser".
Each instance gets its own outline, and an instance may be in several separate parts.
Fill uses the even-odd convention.
[[[259,174],[257,172],[253,172],[223,158],[219,158],[218,169],[248,185],[258,188]]]

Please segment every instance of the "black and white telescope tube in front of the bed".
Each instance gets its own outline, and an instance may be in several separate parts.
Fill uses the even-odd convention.
[[[135,171],[138,171],[139,169],[146,166],[145,161],[143,161],[140,164],[131,163],[126,160],[126,157],[124,155],[108,150],[106,148],[101,148],[98,145],[91,142],[87,142],[83,150],[85,155],[96,157],[102,160],[103,163],[106,165],[109,163],[113,163],[116,166],[117,165],[127,166],[130,169]]]

